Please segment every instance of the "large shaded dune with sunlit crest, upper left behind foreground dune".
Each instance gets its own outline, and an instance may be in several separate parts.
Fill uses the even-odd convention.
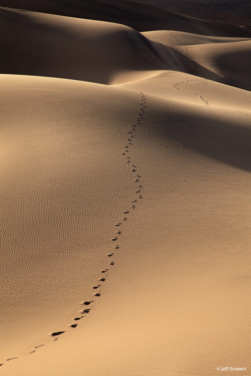
[[[171,49],[163,46],[160,54],[157,43],[127,26],[5,8],[0,12],[1,73],[109,84],[175,67]]]

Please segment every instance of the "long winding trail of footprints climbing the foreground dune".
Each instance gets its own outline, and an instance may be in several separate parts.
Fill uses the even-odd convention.
[[[132,146],[133,144],[133,139],[134,139],[134,135],[135,133],[137,132],[137,127],[139,126],[139,124],[141,123],[142,119],[143,119],[143,114],[145,112],[145,107],[146,107],[146,97],[145,95],[143,94],[143,92],[140,92],[140,96],[141,96],[141,101],[140,101],[140,111],[138,113],[138,118],[137,120],[135,121],[134,124],[132,124],[130,126],[130,129],[128,129],[127,131],[127,145],[124,146],[124,150],[122,151],[122,155],[125,156],[125,159],[126,159],[126,164],[129,165],[129,167],[131,168],[131,172],[133,173],[133,178],[134,178],[134,181],[136,183],[136,188],[135,188],[135,193],[137,194],[137,198],[134,198],[131,202],[131,209],[129,210],[125,210],[123,212],[123,214],[129,214],[130,210],[134,210],[136,208],[136,205],[137,205],[137,201],[138,199],[142,199],[143,196],[141,195],[141,189],[143,188],[143,186],[141,185],[141,176],[140,174],[137,174],[137,167],[132,163],[131,161],[131,157],[129,155],[129,149],[130,147]],[[126,221],[127,220],[127,217],[124,216],[122,218],[122,221]],[[111,239],[112,242],[115,243],[115,245],[113,246],[114,249],[119,249],[119,236],[122,234],[122,223],[123,222],[119,222],[119,223],[116,223],[115,224],[115,227],[117,229],[117,232],[116,232],[116,236],[114,238]],[[115,252],[111,252],[109,253],[108,255],[108,258],[112,258],[112,260],[109,262],[109,265],[112,267],[115,265],[115,261],[113,260],[113,257],[115,256]],[[99,282],[105,282],[106,281],[106,278],[109,277],[109,268],[106,268],[104,270],[101,270],[101,273],[103,274],[101,278],[99,278]],[[94,291],[93,293],[93,297],[100,297],[103,293],[103,290],[101,289],[102,287],[102,284],[97,284],[93,287],[91,287]],[[98,290],[98,291],[96,291]],[[81,305],[84,305],[85,308],[82,309],[81,311],[79,311],[79,315],[78,317],[75,317],[73,318],[74,321],[79,321],[81,320],[82,318],[86,317],[86,314],[90,313],[94,306],[92,305],[92,303],[94,303],[94,300],[86,300],[84,302],[80,302],[79,304]],[[70,324],[68,325],[68,327],[71,327],[71,328],[76,328],[78,326],[78,323],[73,323],[73,324]],[[65,331],[61,331],[61,332],[53,332],[53,333],[50,333],[49,336],[50,337],[54,337],[53,338],[53,341],[57,341],[59,339],[59,336],[61,334],[65,333]],[[32,350],[29,352],[29,354],[33,354],[35,351],[37,351],[37,349],[39,347],[42,347],[44,346],[45,344],[41,344],[41,345],[38,345],[38,346],[35,346],[34,349],[35,350]],[[9,359],[6,359],[6,361],[9,361],[9,360],[12,360],[12,359],[17,359],[18,356],[16,356],[15,358],[9,358]],[[3,365],[0,364],[0,366]]]

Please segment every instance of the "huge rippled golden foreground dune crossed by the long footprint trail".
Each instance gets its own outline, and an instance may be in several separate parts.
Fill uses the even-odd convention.
[[[122,152],[137,91],[1,82],[1,373],[200,375],[196,365],[209,376],[222,359],[246,364],[250,114],[146,94],[130,152],[143,200],[132,212],[135,178]],[[78,302],[92,298],[125,209],[103,295],[68,329]],[[58,343],[46,337],[62,330]]]

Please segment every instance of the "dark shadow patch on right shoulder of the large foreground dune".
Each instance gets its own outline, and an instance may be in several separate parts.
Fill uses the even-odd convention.
[[[168,113],[157,121],[156,131],[188,149],[251,172],[251,128],[239,125],[243,116],[249,124],[250,114],[240,113],[238,117],[236,111],[207,108],[184,115],[183,109],[178,118],[177,113]],[[159,113],[156,117],[160,117]]]

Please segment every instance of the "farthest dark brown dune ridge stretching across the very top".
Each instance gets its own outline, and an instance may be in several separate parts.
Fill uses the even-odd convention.
[[[251,31],[237,26],[199,20],[152,6],[118,0],[1,0],[0,6],[29,11],[88,18],[127,25],[138,31],[178,30],[211,36],[248,37]]]

